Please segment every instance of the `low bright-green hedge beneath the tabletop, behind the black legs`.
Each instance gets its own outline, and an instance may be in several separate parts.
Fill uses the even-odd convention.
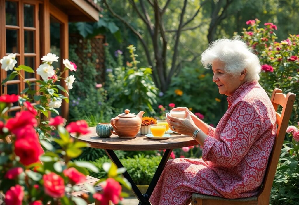
[[[108,157],[102,157],[95,162],[91,162],[98,167],[99,173],[91,172],[90,175],[97,178],[104,177],[105,172],[101,168],[101,165],[104,162],[109,161]],[[138,154],[133,158],[120,159],[120,161],[136,184],[148,185],[156,172],[156,169],[161,161],[161,157],[145,157],[142,154]]]

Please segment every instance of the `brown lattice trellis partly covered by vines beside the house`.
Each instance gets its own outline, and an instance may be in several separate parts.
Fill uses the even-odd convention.
[[[103,48],[103,43],[105,42],[105,36],[103,35],[97,35],[90,40],[91,44],[91,53],[96,54],[96,70],[99,72],[101,75],[96,76],[96,81],[97,82],[104,82],[105,81],[105,63],[104,63],[104,48]],[[86,63],[87,58],[91,58],[91,53],[87,54],[87,56],[83,55],[83,50],[86,49],[87,45],[87,39],[84,39],[82,36],[79,34],[70,34],[69,37],[69,44],[75,44],[77,45],[77,48],[75,50],[77,56],[81,60],[82,64]],[[78,67],[82,67],[81,65],[77,65]]]

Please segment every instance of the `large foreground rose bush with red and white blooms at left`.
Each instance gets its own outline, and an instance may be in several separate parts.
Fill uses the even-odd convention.
[[[15,57],[16,54],[9,54],[0,60],[2,69],[13,70],[3,83],[16,75],[22,78],[22,70],[34,72],[25,65],[14,67]],[[22,96],[0,96],[0,192],[5,195],[4,202],[7,205],[42,205],[48,202],[60,202],[63,205],[87,204],[82,198],[71,194],[81,189],[77,184],[86,182],[89,170],[98,172],[89,162],[71,160],[82,153],[81,148],[89,146],[77,140],[78,136],[89,132],[87,123],[79,120],[64,127],[66,120],[59,115],[55,118],[45,118],[49,117],[48,111],[59,114],[54,108],[60,107],[62,100],[68,102],[68,97],[59,93],[59,89],[67,93],[66,90],[55,82],[64,80],[71,89],[74,78],[70,76],[63,79],[61,76],[66,70],[77,69],[74,63],[65,59],[65,69],[60,73],[59,69],[54,71],[51,64],[57,59],[55,54],[47,54],[41,59],[43,63],[37,69],[37,73],[43,81],[36,81],[39,83],[39,90],[31,89],[31,83],[26,81],[28,88],[21,92]],[[33,96],[33,99],[30,96]],[[36,103],[32,106],[30,102],[33,100]],[[7,116],[7,111],[16,101],[23,109],[13,117]],[[50,138],[51,130],[57,130],[59,137]],[[74,138],[71,138],[70,133],[74,133]],[[58,148],[55,149],[49,141],[57,144]],[[117,183],[130,186],[126,180],[118,176],[123,173],[123,169],[110,165],[106,171],[109,180],[114,178]],[[105,179],[101,183],[104,182]],[[90,192],[86,199],[93,203],[94,198],[98,198],[97,193],[93,186],[85,185]],[[120,192],[116,190],[105,196],[106,201],[100,201],[100,204],[117,201],[121,198]]]

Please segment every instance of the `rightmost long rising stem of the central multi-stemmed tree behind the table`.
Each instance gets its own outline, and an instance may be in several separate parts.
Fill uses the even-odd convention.
[[[170,79],[171,79],[171,77],[173,76],[173,74],[175,72],[176,58],[177,58],[177,55],[178,55],[178,45],[179,45],[179,40],[180,40],[180,35],[181,35],[181,29],[182,29],[182,26],[183,26],[183,20],[184,20],[184,14],[185,14],[185,11],[186,11],[186,6],[187,6],[187,0],[184,0],[184,6],[183,6],[183,9],[182,9],[182,12],[181,12],[179,28],[176,32],[176,42],[175,42],[175,45],[174,45],[171,68],[170,68],[170,72],[167,76],[167,85],[170,84]]]

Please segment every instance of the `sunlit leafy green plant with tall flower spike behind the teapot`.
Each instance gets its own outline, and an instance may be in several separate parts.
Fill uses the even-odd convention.
[[[130,109],[131,113],[138,113],[141,110],[154,113],[152,105],[156,104],[157,88],[152,81],[152,69],[138,68],[139,61],[136,60],[138,55],[134,53],[136,48],[130,45],[128,49],[132,62],[127,62],[126,67],[121,67],[122,58],[118,57],[118,62],[115,62],[106,47],[105,53],[108,54],[107,65],[109,66],[106,86],[109,96],[112,97],[112,104],[114,107]],[[118,56],[121,56],[121,53],[119,52]],[[119,67],[113,69],[110,67],[115,65]]]

